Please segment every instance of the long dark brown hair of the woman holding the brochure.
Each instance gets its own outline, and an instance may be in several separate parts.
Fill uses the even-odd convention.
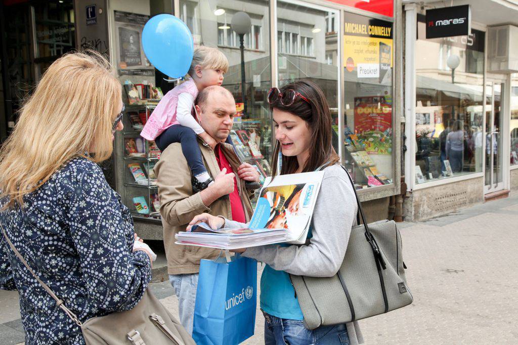
[[[309,100],[306,102],[300,97],[295,98],[295,102],[286,107],[280,100],[270,105],[270,109],[287,111],[306,121],[311,137],[313,138],[309,147],[309,157],[302,172],[314,171],[316,168],[329,163],[336,164],[340,158],[336,154],[332,145],[332,119],[329,112],[329,105],[322,92],[322,89],[310,80],[300,80],[284,85],[280,88],[281,93],[292,89],[300,93]],[[275,143],[274,154],[271,157],[271,174],[277,174],[277,157],[279,156],[280,143]],[[296,156],[281,155],[282,164],[280,175],[293,174],[298,169]]]

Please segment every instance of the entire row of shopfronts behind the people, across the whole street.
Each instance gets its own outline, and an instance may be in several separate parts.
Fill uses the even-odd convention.
[[[444,2],[4,0],[0,137],[8,136],[31,85],[73,49],[109,56],[125,90],[141,85],[140,96],[146,85],[170,90],[176,82],[154,69],[140,40],[150,17],[171,13],[189,27],[195,46],[217,47],[228,57],[223,87],[236,99],[236,139],[252,145],[243,159],[263,175],[271,173],[275,143],[267,92],[310,79],[326,95],[333,145],[369,219],[434,217],[518,188],[518,66],[509,45],[516,3],[454,0],[449,5],[471,5],[470,34],[426,39],[426,10]],[[232,29],[239,11],[251,22],[243,59]],[[127,130],[116,136],[106,175],[133,210],[137,231],[160,239],[156,187],[136,183],[128,168],[139,165],[151,179],[157,157],[130,119],[145,120],[153,103],[126,102]],[[145,156],[128,152],[132,145]],[[141,197],[147,211],[135,202]]]

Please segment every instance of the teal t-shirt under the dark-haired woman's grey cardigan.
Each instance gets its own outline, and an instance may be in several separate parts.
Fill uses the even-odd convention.
[[[311,238],[311,227],[308,237]],[[282,243],[281,247],[288,247]],[[295,289],[291,283],[290,275],[285,271],[277,271],[269,265],[261,275],[261,309],[264,312],[281,319],[303,320],[304,315],[298,299],[295,298]]]

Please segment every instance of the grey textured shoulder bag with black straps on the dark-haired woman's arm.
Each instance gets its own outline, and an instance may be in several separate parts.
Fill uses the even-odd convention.
[[[335,276],[290,275],[308,329],[369,318],[408,306],[413,300],[396,223],[367,224],[351,176],[342,169],[353,185],[363,224],[351,229],[346,255]]]

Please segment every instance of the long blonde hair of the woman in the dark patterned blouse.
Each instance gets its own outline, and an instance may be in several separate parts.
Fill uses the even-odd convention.
[[[26,194],[74,157],[94,162],[110,157],[121,104],[121,83],[102,55],[76,52],[54,61],[0,150],[0,197],[9,199],[3,208],[23,206]]]

